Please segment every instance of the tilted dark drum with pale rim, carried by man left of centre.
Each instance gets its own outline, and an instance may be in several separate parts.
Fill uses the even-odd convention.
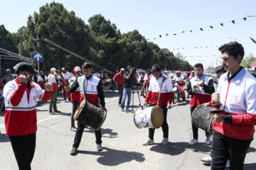
[[[95,130],[100,130],[106,117],[107,113],[105,111],[83,100],[75,111],[74,120],[78,120],[78,122]]]

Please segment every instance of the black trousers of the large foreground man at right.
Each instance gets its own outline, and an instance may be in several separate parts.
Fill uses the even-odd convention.
[[[251,142],[252,140],[238,140],[213,131],[213,152],[211,153],[213,159],[210,169],[225,169],[228,158],[231,170],[243,169],[245,155]]]

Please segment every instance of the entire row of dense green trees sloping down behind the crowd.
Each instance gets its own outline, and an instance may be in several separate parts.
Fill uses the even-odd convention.
[[[27,26],[21,27],[17,33],[11,35],[3,27],[0,26],[0,36],[6,37],[3,40],[6,46],[3,47],[12,47],[12,51],[27,57],[32,57],[33,52],[43,53],[41,68],[47,71],[50,67],[72,69],[84,61],[41,39],[36,40],[38,34],[111,71],[127,65],[147,69],[153,64],[159,64],[162,69],[193,68],[168,49],[147,42],[138,30],[120,33],[114,23],[100,14],[90,17],[86,24],[75,16],[74,11],[69,12],[63,4],[54,1],[41,6],[39,13],[28,16]],[[11,42],[8,36],[11,36]]]

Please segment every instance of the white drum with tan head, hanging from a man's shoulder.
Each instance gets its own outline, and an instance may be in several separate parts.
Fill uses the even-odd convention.
[[[134,113],[137,128],[160,128],[164,123],[164,113],[159,106],[139,107]]]

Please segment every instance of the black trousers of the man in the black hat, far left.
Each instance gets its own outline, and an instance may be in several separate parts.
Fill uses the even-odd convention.
[[[36,149],[36,132],[31,135],[10,136],[11,147],[19,170],[31,170],[31,162]]]

